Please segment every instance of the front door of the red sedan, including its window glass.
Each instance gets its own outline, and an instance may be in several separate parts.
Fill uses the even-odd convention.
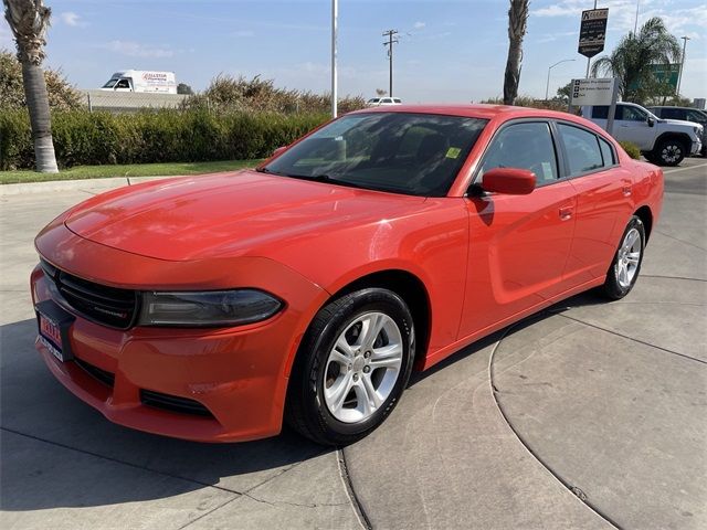
[[[514,317],[566,290],[562,273],[574,226],[572,184],[561,167],[550,124],[506,125],[489,142],[475,176],[493,168],[536,173],[528,195],[469,193],[469,251],[460,338]]]

